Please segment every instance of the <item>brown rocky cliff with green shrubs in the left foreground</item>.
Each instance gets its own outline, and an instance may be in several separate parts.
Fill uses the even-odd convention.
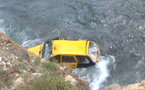
[[[73,70],[40,59],[0,33],[0,90],[89,90]]]

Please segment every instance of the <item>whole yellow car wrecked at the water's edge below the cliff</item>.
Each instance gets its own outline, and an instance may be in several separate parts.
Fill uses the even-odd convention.
[[[100,60],[98,45],[87,40],[50,40],[28,51],[44,59],[55,58],[73,68],[95,65]]]

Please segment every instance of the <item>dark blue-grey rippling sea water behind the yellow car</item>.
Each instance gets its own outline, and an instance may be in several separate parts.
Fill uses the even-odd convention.
[[[145,79],[145,0],[0,0],[0,31],[21,45],[56,37],[56,29],[65,39],[96,41],[103,56],[115,56],[104,87]]]

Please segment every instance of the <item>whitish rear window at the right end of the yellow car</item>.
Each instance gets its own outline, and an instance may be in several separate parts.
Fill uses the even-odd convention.
[[[94,43],[94,42],[91,42],[90,43],[90,46],[89,46],[89,54],[94,57],[94,58],[97,58],[98,57],[98,47],[97,47],[97,44]]]

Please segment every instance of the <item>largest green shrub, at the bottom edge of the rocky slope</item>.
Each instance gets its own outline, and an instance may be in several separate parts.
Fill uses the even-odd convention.
[[[57,73],[49,73],[18,90],[76,90],[76,88],[69,82],[65,82]]]

